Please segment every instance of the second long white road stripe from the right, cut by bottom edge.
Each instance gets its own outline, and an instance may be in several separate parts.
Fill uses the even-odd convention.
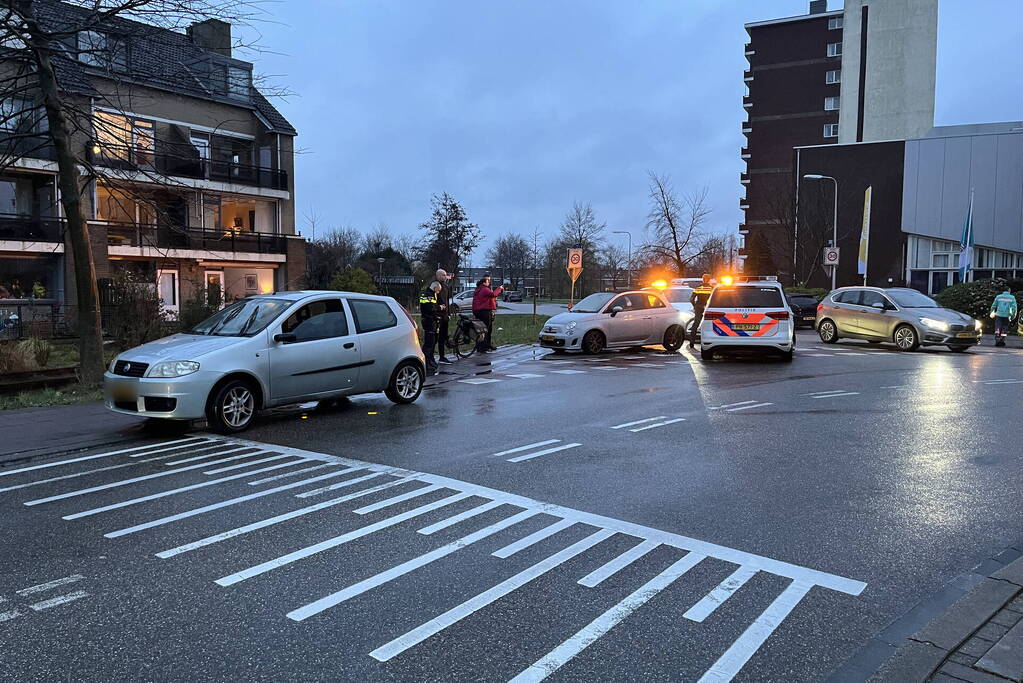
[[[608,631],[621,624],[626,617],[673,584],[702,559],[704,559],[704,555],[695,552],[686,554],[664,572],[648,581],[624,600],[587,624],[574,636],[537,659],[526,671],[513,678],[510,683],[535,683],[536,681],[544,680],[564,667],[572,657],[596,642]]]

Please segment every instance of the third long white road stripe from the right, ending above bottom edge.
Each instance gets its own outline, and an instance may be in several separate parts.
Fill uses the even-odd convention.
[[[379,662],[387,662],[410,647],[421,643],[424,640],[434,636],[444,629],[460,622],[465,617],[476,612],[483,607],[491,604],[492,602],[499,600],[508,593],[511,593],[518,588],[525,586],[534,579],[543,576],[547,572],[560,566],[564,562],[572,559],[576,555],[582,554],[583,552],[589,550],[598,543],[614,536],[617,532],[610,529],[602,529],[598,532],[590,534],[583,540],[573,543],[568,548],[554,553],[550,557],[537,562],[533,566],[520,572],[510,579],[506,579],[501,583],[497,584],[493,588],[486,590],[479,595],[465,600],[461,604],[448,609],[446,612],[430,620],[422,626],[412,629],[408,633],[399,636],[389,643],[381,645],[372,652],[369,656],[377,659]]]

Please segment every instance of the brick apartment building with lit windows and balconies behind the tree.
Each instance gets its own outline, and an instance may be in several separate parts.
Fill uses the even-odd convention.
[[[37,12],[60,27],[81,26],[88,10],[40,1]],[[100,285],[133,271],[172,316],[208,283],[230,301],[301,286],[305,274],[297,132],[231,46],[224,21],[177,33],[116,17],[77,32],[54,63],[89,119],[76,122],[74,146]],[[33,315],[41,305],[59,313],[76,302],[74,264],[45,118],[30,116],[39,108],[28,95],[2,106],[0,317],[26,300]]]

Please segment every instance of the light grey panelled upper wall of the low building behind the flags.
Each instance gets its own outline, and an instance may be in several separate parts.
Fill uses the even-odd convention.
[[[976,243],[1023,251],[1023,132],[907,140],[902,230],[959,240],[971,188]]]

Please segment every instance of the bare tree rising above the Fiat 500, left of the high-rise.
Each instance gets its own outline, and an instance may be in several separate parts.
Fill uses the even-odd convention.
[[[670,261],[679,276],[684,276],[686,265],[700,256],[696,247],[703,224],[710,215],[707,188],[694,190],[679,198],[670,178],[651,172],[650,204],[647,228],[651,239],[640,251]]]

